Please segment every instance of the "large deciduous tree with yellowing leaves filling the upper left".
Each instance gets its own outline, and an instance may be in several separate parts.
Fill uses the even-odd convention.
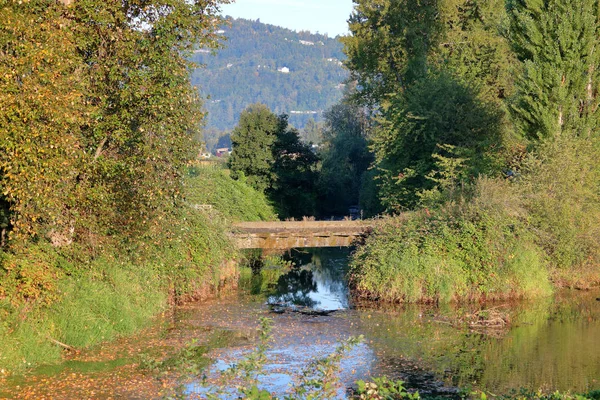
[[[0,188],[12,239],[158,232],[197,151],[187,55],[227,0],[0,0]]]

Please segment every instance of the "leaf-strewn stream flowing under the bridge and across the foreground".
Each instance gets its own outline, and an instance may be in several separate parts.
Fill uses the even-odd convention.
[[[349,254],[348,249],[292,249],[281,255],[283,266],[266,257],[261,270],[242,271],[239,293],[179,307],[145,336],[40,368],[5,382],[5,391],[0,382],[0,398],[160,397],[161,387],[174,381],[139,373],[140,353],[161,357],[175,343],[206,342],[226,333],[228,340],[213,340],[208,349],[210,385],[256,346],[261,317],[272,319],[273,338],[259,381],[280,396],[289,393],[311,360],[360,335],[364,340],[341,362],[339,398],[347,397],[357,380],[383,375],[403,380],[425,397],[457,398],[461,390],[600,389],[600,291],[565,290],[538,301],[467,306],[353,304],[345,280]],[[78,380],[86,382],[87,392]],[[117,393],[116,388],[129,389]],[[202,398],[206,391],[199,380],[179,388],[187,398]]]

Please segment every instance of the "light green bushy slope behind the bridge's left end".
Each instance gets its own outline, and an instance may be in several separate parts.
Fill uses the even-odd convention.
[[[185,180],[186,201],[210,206],[230,221],[272,221],[276,215],[265,195],[218,167],[192,167]]]

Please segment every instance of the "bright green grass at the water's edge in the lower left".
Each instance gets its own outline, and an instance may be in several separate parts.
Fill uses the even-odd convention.
[[[58,263],[67,262],[60,255],[50,254],[48,248],[32,246],[29,253],[44,254]],[[34,261],[29,254],[20,256],[24,257],[23,263]],[[45,265],[49,264],[48,260],[44,261]],[[50,295],[55,297],[44,308],[33,301],[25,305],[10,304],[10,297],[0,298],[0,360],[3,368],[21,372],[36,364],[56,361],[63,350],[58,342],[83,348],[131,334],[165,309],[164,284],[152,267],[140,269],[132,263],[114,259],[99,259],[89,267],[90,272],[79,272],[76,276],[61,274],[60,279],[53,280],[51,292],[50,288],[44,288],[45,293],[37,299],[38,303]],[[12,282],[6,276],[1,279],[10,290]],[[32,279],[39,280],[40,277]]]

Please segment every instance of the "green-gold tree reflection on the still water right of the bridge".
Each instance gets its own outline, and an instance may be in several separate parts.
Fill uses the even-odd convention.
[[[399,312],[370,310],[362,314],[361,331],[392,364],[381,365],[388,375],[401,373],[408,359],[459,387],[476,382],[478,388],[500,393],[521,387],[585,392],[600,388],[600,381],[592,381],[600,376],[600,307],[595,296],[575,293],[554,301],[510,304],[512,328],[500,338],[436,322],[468,310],[420,306]]]

